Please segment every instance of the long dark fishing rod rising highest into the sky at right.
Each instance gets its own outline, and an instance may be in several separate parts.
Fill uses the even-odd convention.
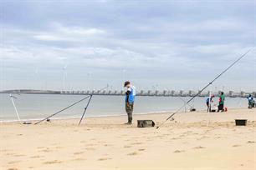
[[[238,59],[236,61],[234,61],[230,66],[228,66],[223,72],[221,72],[217,77],[215,77],[212,82],[215,82],[219,77],[221,77],[223,75],[223,73],[227,72],[231,67],[233,67],[233,65],[235,65],[237,62],[239,62],[244,56],[246,56],[248,54],[248,52],[250,52],[251,49],[249,49],[247,52],[245,52],[242,56],[238,57]],[[174,115],[177,114],[177,112],[180,112],[182,110],[183,107],[186,107],[187,104],[189,102],[191,102],[195,97],[197,97],[199,94],[201,94],[202,91],[204,91],[208,86],[210,86],[212,84],[212,82],[209,82],[207,84],[207,86],[203,87],[199,92],[197,92],[197,94],[195,96],[193,96],[191,99],[189,99],[182,107],[180,107],[179,109],[177,109],[176,112],[173,112],[172,115],[170,117],[167,117],[166,120],[164,122],[161,122],[161,124],[156,127],[160,128],[163,124],[165,124],[170,118],[172,118]]]

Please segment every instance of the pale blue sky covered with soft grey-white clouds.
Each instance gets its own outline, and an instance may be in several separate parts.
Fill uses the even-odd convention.
[[[0,1],[0,90],[256,91],[256,2]]]

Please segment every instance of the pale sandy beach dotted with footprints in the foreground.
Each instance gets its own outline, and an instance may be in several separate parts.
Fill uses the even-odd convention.
[[[53,120],[38,125],[0,124],[1,169],[256,169],[256,110],[178,113],[159,129],[136,128],[136,120],[156,125],[168,113]],[[236,127],[234,119],[248,119]]]

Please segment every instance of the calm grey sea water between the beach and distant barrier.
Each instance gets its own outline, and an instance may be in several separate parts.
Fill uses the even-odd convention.
[[[58,112],[84,96],[76,95],[49,95],[49,94],[14,94],[14,102],[21,119],[39,119]],[[182,107],[190,97],[136,97],[134,113],[175,111]],[[205,97],[196,97],[191,106],[197,110],[206,109]],[[54,118],[80,117],[88,100],[80,102],[74,107],[59,113]],[[214,104],[218,98],[214,98]],[[247,107],[246,98],[226,97],[225,105],[231,107]],[[187,106],[187,110],[189,106]],[[183,110],[185,111],[185,110]],[[93,96],[85,117],[100,117],[125,114],[124,97],[121,96]],[[0,94],[0,121],[17,120],[13,103],[8,94]]]

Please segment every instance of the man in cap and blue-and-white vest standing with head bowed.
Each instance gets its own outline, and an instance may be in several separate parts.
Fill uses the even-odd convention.
[[[136,87],[132,86],[131,82],[126,81],[125,88],[125,111],[127,112],[128,116],[128,122],[126,122],[125,124],[131,124],[134,99],[136,96]]]

